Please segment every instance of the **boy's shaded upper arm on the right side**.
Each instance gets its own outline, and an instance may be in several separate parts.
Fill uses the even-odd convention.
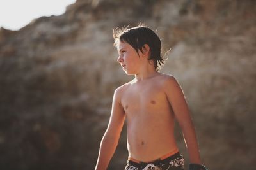
[[[186,102],[183,90],[179,82],[173,76],[168,76],[164,90],[170,105],[172,106],[175,118],[181,127],[191,124],[191,116]]]

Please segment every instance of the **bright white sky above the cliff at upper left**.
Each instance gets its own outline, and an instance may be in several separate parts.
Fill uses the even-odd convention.
[[[0,0],[0,27],[19,30],[33,19],[61,15],[76,0]]]

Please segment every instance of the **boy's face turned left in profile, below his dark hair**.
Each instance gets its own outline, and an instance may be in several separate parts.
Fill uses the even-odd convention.
[[[127,75],[135,75],[138,74],[141,60],[140,54],[141,51],[139,50],[139,55],[136,50],[126,43],[125,41],[118,41],[117,43],[117,51],[119,57],[117,62],[119,62]]]

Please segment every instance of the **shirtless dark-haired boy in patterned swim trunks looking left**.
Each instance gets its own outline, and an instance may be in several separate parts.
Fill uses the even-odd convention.
[[[175,118],[188,148],[189,169],[205,169],[182,89],[175,77],[159,73],[164,60],[157,34],[139,25],[116,29],[113,36],[119,55],[117,61],[127,75],[135,78],[115,90],[95,170],[107,169],[125,118],[129,152],[125,170],[184,169],[184,158],[174,138]]]

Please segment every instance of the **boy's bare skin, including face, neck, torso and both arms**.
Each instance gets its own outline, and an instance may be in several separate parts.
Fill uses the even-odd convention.
[[[111,117],[102,138],[96,169],[106,169],[115,152],[120,132],[127,120],[129,157],[150,162],[177,149],[174,120],[184,134],[190,162],[201,164],[195,129],[188,104],[178,81],[156,71],[148,60],[150,48],[139,53],[125,41],[117,44],[118,63],[126,74],[134,75],[118,87],[113,96]]]

